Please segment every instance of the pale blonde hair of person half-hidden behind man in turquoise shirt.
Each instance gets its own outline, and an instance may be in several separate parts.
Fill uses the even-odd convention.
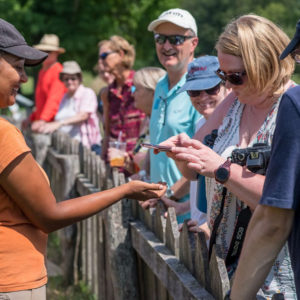
[[[156,67],[145,67],[135,72],[133,81],[143,88],[154,91],[158,80],[166,74],[166,71]]]

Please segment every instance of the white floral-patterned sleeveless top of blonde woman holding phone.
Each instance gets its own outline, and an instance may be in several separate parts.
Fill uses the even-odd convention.
[[[248,145],[248,147],[253,146],[255,143],[267,143],[268,145],[271,145],[279,103],[280,99],[273,105],[267,118],[259,129],[256,138]],[[231,156],[232,150],[238,148],[240,121],[244,107],[245,105],[236,99],[231,105],[222,125],[218,129],[218,137],[216,138],[213,149],[224,158]],[[207,216],[208,225],[211,230],[214,221],[220,212],[222,190],[222,184],[217,183],[213,178],[206,177],[206,196],[208,201]],[[224,259],[226,258],[230,247],[238,215],[241,210],[246,207],[244,202],[239,200],[231,192],[227,191],[224,202],[223,218],[219,225],[216,238],[216,243],[220,245]],[[235,267],[236,265],[228,266],[229,276],[232,275]],[[262,292],[267,299],[271,299],[272,295],[279,291],[285,294],[285,299],[297,299],[287,244],[278,255],[277,260],[262,287]]]

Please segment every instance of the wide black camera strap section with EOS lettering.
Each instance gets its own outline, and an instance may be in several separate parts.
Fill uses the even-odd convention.
[[[249,224],[249,221],[251,219],[252,213],[247,206],[246,208],[242,209],[242,211],[239,213],[234,233],[230,242],[229,250],[225,259],[226,266],[230,266],[233,263],[235,263],[238,258],[240,257],[243,242],[246,235],[246,230]]]

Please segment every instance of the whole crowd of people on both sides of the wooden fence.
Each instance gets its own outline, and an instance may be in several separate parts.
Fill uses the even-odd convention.
[[[300,21],[290,41],[270,20],[243,15],[219,36],[217,56],[194,58],[196,20],[170,9],[148,26],[163,69],[134,71],[135,49],[123,37],[99,42],[99,76],[107,86],[98,101],[82,84],[77,62],[58,62],[65,49],[56,35],[44,35],[32,48],[13,25],[0,20],[0,26],[9,37],[0,37],[1,107],[12,105],[26,82],[24,65],[42,63],[35,111],[23,127],[67,132],[107,162],[120,150],[110,142],[124,143],[120,171],[129,179],[57,204],[20,131],[0,119],[0,273],[6,274],[0,298],[28,293],[36,297],[28,299],[45,299],[47,233],[123,197],[142,200],[144,209],[162,201],[175,208],[179,224],[189,219],[190,231],[205,233],[209,255],[219,245],[233,278],[227,299],[300,296],[300,100],[291,80],[300,62]],[[169,150],[148,150],[143,143]]]

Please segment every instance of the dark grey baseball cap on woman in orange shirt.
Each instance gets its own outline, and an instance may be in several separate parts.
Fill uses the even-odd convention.
[[[48,54],[27,45],[21,33],[12,24],[0,19],[0,51],[25,59],[25,66],[40,64]]]

